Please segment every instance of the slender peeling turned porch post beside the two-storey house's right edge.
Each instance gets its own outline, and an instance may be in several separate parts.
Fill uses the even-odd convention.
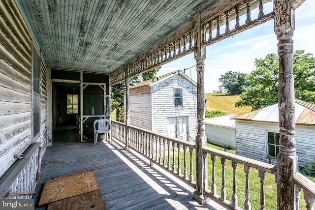
[[[201,46],[202,27],[200,15],[197,17],[194,28],[194,54],[197,61],[197,136],[196,136],[196,191],[193,197],[199,204],[205,204],[208,200],[204,196],[204,189],[208,184],[208,161],[203,157],[202,147],[207,146],[205,135],[205,90],[204,90],[204,60],[206,59],[206,48]]]

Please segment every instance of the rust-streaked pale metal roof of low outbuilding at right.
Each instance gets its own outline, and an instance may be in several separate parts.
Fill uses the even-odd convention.
[[[233,117],[234,120],[248,120],[261,122],[279,122],[278,103],[249,113]],[[315,125],[315,105],[295,100],[295,123],[302,125]]]

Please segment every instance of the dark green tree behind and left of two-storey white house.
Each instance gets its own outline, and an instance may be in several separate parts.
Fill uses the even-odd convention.
[[[160,68],[161,67],[158,66],[150,71],[140,74],[139,76],[132,77],[130,79],[130,86],[155,78]],[[112,86],[112,111],[116,110],[116,120],[120,122],[124,121],[124,95],[121,93],[124,89],[126,89],[125,82]]]

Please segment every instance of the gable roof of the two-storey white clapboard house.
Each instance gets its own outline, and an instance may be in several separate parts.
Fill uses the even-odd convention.
[[[157,85],[158,83],[163,82],[163,81],[165,81],[165,80],[167,80],[167,79],[169,79],[169,78],[171,78],[173,76],[176,76],[176,75],[182,76],[184,79],[189,81],[189,83],[191,83],[192,85],[197,87],[197,83],[195,81],[193,81],[187,74],[185,74],[181,70],[177,70],[177,71],[173,71],[171,73],[167,73],[167,74],[164,74],[162,76],[156,77],[154,79],[143,81],[143,82],[138,83],[138,84],[136,84],[134,86],[130,86],[130,90],[131,89],[140,88],[140,87],[145,87],[145,86],[152,87],[152,86]]]

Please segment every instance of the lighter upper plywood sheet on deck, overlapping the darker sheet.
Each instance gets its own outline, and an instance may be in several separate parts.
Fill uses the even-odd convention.
[[[95,190],[99,190],[99,186],[93,170],[60,176],[45,182],[38,205],[48,204]]]

